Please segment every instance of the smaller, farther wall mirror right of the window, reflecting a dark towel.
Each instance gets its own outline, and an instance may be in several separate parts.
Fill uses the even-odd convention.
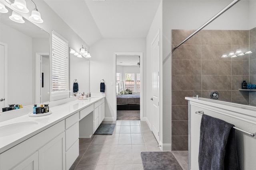
[[[70,48],[71,50],[71,48]],[[70,53],[70,97],[74,94],[90,92],[90,60],[85,57],[77,57]],[[78,91],[73,88],[78,85]]]

